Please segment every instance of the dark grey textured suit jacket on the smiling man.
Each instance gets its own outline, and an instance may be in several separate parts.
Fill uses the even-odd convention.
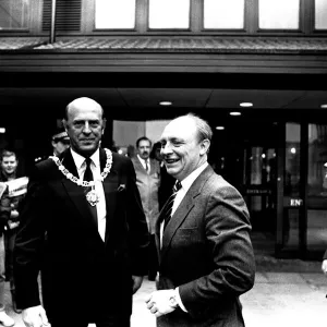
[[[160,250],[158,289],[179,287],[187,313],[177,308],[158,326],[244,326],[239,295],[255,274],[250,230],[242,196],[208,166],[166,227]]]

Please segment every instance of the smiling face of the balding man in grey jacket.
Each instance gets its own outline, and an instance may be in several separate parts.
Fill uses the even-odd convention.
[[[195,120],[191,117],[172,120],[165,128],[160,142],[167,171],[179,181],[207,160],[210,142],[199,141]]]

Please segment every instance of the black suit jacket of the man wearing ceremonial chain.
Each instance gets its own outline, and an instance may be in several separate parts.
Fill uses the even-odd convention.
[[[62,158],[77,177],[71,152]],[[83,187],[66,179],[51,159],[36,165],[14,251],[19,307],[40,303],[41,269],[43,301],[50,319],[84,315],[92,322],[101,314],[131,314],[131,275],[147,274],[148,232],[131,160],[112,153],[112,161],[104,181],[105,242]],[[101,171],[105,165],[100,149]]]

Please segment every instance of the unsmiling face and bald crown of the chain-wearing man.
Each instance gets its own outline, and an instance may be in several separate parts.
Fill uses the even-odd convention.
[[[77,154],[92,156],[99,147],[106,120],[102,108],[89,98],[78,98],[71,102],[63,125],[71,140],[71,147]]]

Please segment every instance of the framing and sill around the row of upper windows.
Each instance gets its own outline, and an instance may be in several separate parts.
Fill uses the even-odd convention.
[[[0,35],[37,35],[43,32],[43,1],[29,0],[27,28],[0,29]],[[60,32],[76,36],[327,36],[327,29],[315,28],[315,0],[300,0],[299,29],[261,29],[258,27],[258,0],[244,2],[244,28],[204,28],[204,0],[190,0],[190,28],[149,28],[148,0],[136,0],[134,28],[95,28],[96,0],[82,0],[80,32]]]

